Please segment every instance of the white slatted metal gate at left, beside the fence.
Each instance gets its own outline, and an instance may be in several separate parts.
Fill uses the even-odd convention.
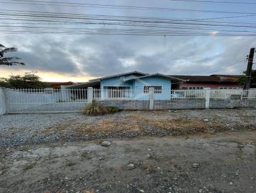
[[[8,113],[78,112],[86,96],[86,89],[6,89],[6,108]]]

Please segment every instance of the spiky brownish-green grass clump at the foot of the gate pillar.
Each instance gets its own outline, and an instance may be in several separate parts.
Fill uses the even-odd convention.
[[[83,110],[83,114],[88,114],[91,116],[98,116],[98,115],[103,115],[103,114],[108,114],[108,109],[97,102],[92,102],[88,105],[86,105]]]

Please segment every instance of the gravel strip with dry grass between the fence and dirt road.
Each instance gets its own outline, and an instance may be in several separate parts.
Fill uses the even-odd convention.
[[[255,109],[123,111],[106,116],[7,114],[0,116],[0,147],[138,135],[254,129]]]

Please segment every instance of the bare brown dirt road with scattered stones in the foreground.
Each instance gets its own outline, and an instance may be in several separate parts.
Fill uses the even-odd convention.
[[[256,192],[255,131],[110,141],[4,148],[0,192]]]

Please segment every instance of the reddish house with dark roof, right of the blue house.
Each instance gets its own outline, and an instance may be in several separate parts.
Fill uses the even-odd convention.
[[[175,89],[238,89],[243,88],[243,85],[238,84],[236,79],[241,75],[171,75],[178,79],[184,79],[186,82],[181,82]]]

